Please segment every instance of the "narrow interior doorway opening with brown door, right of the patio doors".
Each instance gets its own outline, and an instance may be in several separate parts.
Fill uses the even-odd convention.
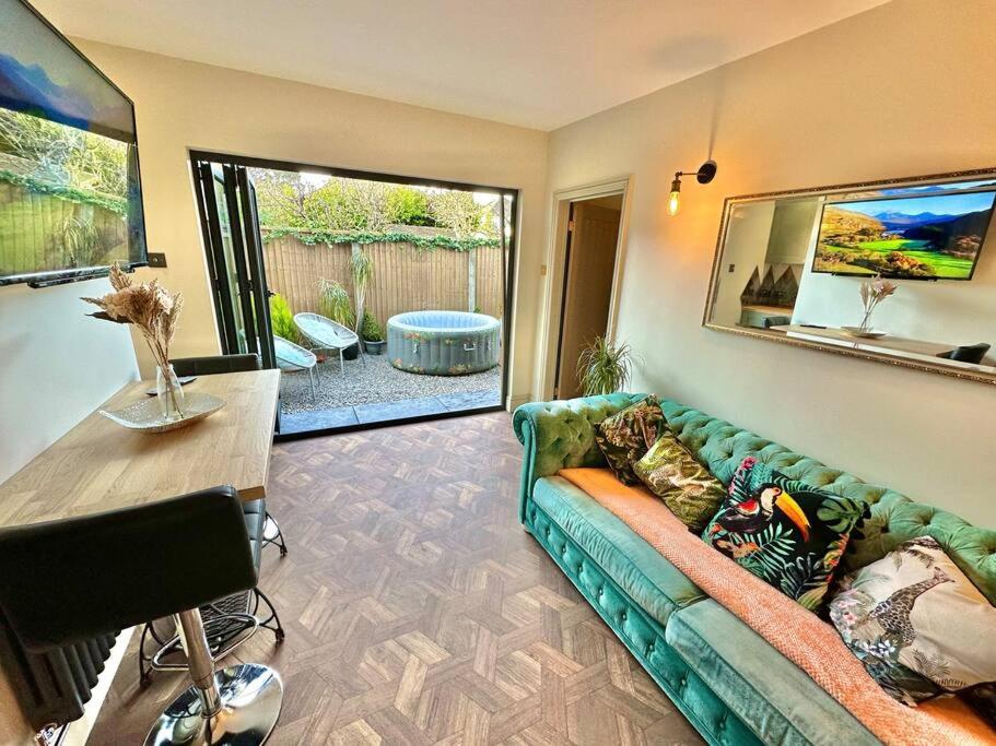
[[[585,346],[609,333],[622,194],[571,201],[553,395],[584,395],[577,360]]]

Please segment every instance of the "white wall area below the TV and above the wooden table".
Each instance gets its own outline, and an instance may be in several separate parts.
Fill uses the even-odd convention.
[[[126,327],[85,315],[106,280],[0,287],[0,482],[138,377]]]

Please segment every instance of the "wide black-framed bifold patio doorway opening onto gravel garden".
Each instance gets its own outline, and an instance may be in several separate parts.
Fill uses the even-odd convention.
[[[501,408],[517,193],[192,153],[225,354],[283,438]]]

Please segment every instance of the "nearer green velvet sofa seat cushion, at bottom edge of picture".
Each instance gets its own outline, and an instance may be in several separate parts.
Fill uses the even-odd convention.
[[[801,668],[712,599],[671,615],[665,640],[765,743],[879,743]]]

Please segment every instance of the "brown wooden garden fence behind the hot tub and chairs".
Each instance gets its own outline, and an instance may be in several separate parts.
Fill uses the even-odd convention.
[[[468,251],[421,249],[412,244],[364,244],[373,260],[366,308],[384,325],[396,313],[419,310],[478,310],[501,318],[503,261],[497,247]],[[308,245],[294,236],[268,239],[263,261],[269,289],[280,293],[291,311],[320,312],[318,281],[335,280],[352,297],[351,244]]]

